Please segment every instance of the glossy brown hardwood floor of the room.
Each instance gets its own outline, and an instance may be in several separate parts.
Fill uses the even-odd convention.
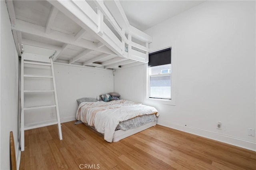
[[[156,125],[108,143],[75,121],[25,131],[20,170],[256,170],[256,152]]]

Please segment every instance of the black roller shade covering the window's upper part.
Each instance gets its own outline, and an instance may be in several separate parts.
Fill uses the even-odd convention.
[[[148,67],[171,63],[171,47],[148,54]]]

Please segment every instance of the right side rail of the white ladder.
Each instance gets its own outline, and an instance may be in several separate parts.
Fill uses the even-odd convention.
[[[53,81],[53,86],[54,86],[54,97],[55,97],[57,120],[58,120],[58,133],[59,133],[60,140],[62,140],[62,131],[61,131],[61,125],[60,125],[60,113],[59,113],[59,105],[58,105],[58,98],[57,98],[57,90],[56,90],[56,82],[55,82],[55,76],[54,76],[54,68],[53,68],[52,57],[50,57],[50,61],[51,61],[51,64],[52,64],[52,81]]]

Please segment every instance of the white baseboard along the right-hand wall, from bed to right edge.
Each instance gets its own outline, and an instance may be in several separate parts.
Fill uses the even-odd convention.
[[[180,124],[173,123],[173,122],[163,121],[163,120],[158,120],[157,124],[165,126],[165,127],[169,127],[169,128],[174,128],[176,130],[188,132],[188,133],[191,133],[191,134],[195,134],[195,135],[198,135],[198,136],[202,136],[202,137],[205,137],[205,138],[210,138],[212,140],[217,140],[217,141],[224,142],[224,143],[227,143],[227,144],[231,144],[231,145],[234,145],[234,146],[238,146],[238,147],[241,147],[241,148],[246,148],[248,150],[256,151],[256,143],[248,141],[248,140],[234,138],[234,137],[231,137],[231,136],[226,136],[224,134],[217,134],[217,133],[214,133],[214,132],[209,132],[209,131],[206,131],[206,130],[201,130],[201,129],[198,129],[198,128],[188,127],[188,126],[180,125]]]

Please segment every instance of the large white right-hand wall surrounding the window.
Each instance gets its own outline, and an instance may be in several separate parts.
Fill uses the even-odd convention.
[[[117,70],[115,91],[156,107],[160,125],[256,150],[255,6],[207,1],[145,31],[150,51],[175,43],[176,106],[144,100],[143,65]]]

